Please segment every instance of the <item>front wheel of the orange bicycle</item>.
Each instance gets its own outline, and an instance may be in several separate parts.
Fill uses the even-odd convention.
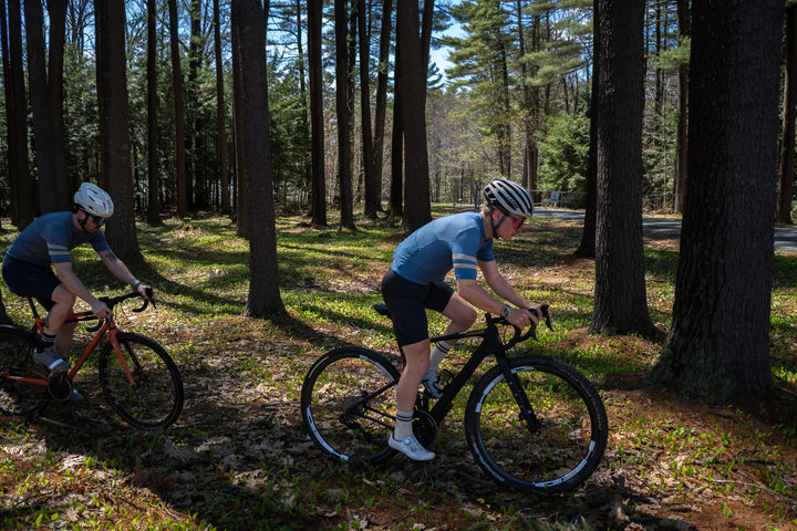
[[[177,365],[155,340],[117,333],[124,363],[136,385],[131,385],[111,342],[100,355],[100,383],[111,407],[139,429],[167,428],[183,410],[183,379]]]

